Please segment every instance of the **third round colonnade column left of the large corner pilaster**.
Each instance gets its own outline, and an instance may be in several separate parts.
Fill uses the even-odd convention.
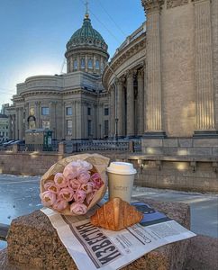
[[[117,134],[118,137],[123,137],[123,82],[122,79],[116,80],[116,89],[117,89]]]

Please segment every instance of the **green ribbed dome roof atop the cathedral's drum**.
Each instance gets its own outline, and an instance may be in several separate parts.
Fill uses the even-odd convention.
[[[67,43],[68,50],[81,46],[96,47],[107,51],[107,45],[103,37],[92,27],[88,14],[85,16],[82,27],[74,32]]]

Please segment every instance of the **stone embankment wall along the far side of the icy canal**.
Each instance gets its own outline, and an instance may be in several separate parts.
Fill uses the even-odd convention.
[[[135,155],[102,152],[111,161],[132,162],[135,184],[157,188],[218,193],[218,158]],[[73,154],[70,154],[73,155]],[[69,156],[69,155],[68,155]],[[43,175],[62,157],[59,154],[0,154],[0,173]]]

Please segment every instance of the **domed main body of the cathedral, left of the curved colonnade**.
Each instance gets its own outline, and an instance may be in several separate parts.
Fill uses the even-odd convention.
[[[9,138],[25,130],[52,130],[54,139],[104,139],[109,132],[109,104],[102,74],[107,45],[86,14],[68,40],[67,74],[31,76],[17,85],[9,114]]]

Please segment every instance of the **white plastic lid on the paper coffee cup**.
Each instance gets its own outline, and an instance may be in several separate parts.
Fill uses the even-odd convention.
[[[127,162],[111,162],[110,166],[106,168],[106,171],[116,175],[135,175],[137,173],[132,163]]]

